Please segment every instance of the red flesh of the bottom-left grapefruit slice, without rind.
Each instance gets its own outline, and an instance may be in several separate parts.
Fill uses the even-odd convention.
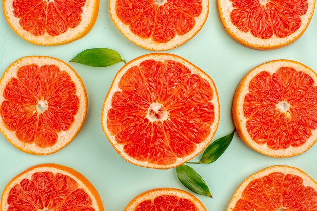
[[[9,192],[8,211],[76,210],[94,211],[89,195],[71,177],[60,173],[36,172]],[[80,207],[78,209],[78,207]]]

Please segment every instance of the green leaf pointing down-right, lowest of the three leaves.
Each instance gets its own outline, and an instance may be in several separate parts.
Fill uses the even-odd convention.
[[[179,181],[189,190],[204,196],[209,196],[209,188],[203,178],[188,165],[181,165],[176,167],[176,173]]]

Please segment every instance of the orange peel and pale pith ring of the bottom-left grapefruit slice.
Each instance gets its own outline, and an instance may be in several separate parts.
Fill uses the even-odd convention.
[[[7,202],[9,192],[16,184],[19,184],[23,179],[31,180],[31,176],[36,172],[45,172],[45,171],[49,171],[54,174],[60,173],[74,179],[78,183],[78,188],[83,189],[90,196],[92,200],[91,207],[93,207],[95,211],[104,211],[102,201],[97,190],[81,173],[73,170],[72,168],[58,165],[58,164],[52,164],[52,163],[35,165],[23,171],[16,177],[14,177],[7,184],[7,186],[5,187],[2,193],[0,210],[3,210],[3,211],[7,210],[7,207],[9,206]]]

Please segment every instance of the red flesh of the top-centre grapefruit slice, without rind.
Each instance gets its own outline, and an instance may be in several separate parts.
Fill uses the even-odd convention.
[[[139,37],[166,43],[193,29],[202,0],[118,0],[116,13]]]

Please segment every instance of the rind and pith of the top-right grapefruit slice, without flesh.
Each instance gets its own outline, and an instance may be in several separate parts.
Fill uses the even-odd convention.
[[[274,34],[270,39],[254,37],[251,32],[240,31],[230,19],[230,13],[234,9],[231,1],[217,0],[220,20],[227,33],[237,42],[249,48],[258,50],[271,50],[282,48],[296,41],[307,29],[314,13],[316,0],[307,0],[308,9],[306,14],[299,16],[302,20],[300,28],[285,38],[276,37]]]

